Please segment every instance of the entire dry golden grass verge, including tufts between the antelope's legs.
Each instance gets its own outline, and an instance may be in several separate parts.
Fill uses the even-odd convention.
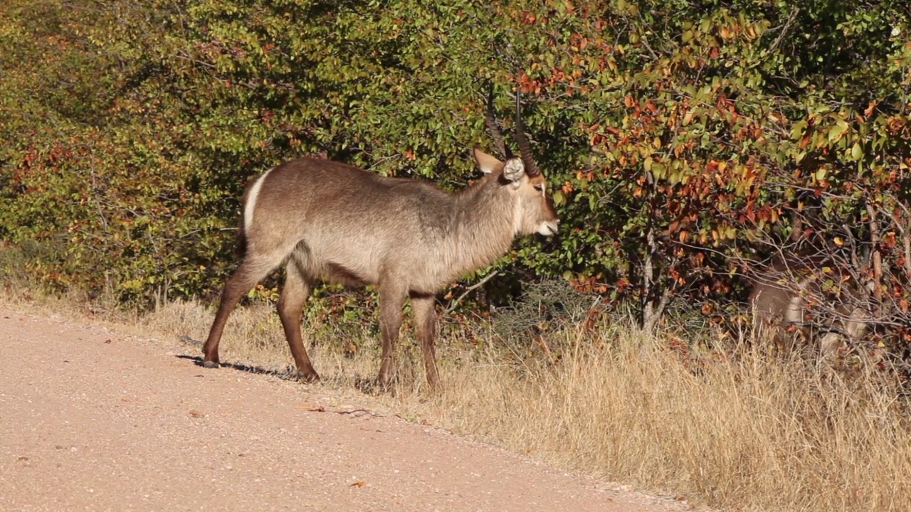
[[[222,361],[288,368],[273,311],[235,311]],[[200,339],[213,314],[175,302],[133,322]],[[449,333],[438,341],[444,384],[432,394],[407,326],[403,333],[395,393],[373,398],[403,417],[711,507],[866,512],[911,503],[908,408],[883,372],[841,374],[748,350],[684,356],[660,336],[617,325],[550,333],[545,342],[563,350],[557,363]],[[358,393],[373,378],[373,336],[355,340],[354,353],[339,348],[352,340],[310,337],[327,388]]]

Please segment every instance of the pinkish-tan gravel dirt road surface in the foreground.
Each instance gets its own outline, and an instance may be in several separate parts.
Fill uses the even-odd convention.
[[[667,512],[319,388],[0,305],[0,510]]]

